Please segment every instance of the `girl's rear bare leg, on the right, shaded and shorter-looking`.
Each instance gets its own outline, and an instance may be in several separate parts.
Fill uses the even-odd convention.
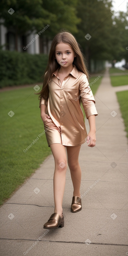
[[[81,149],[80,146],[66,146],[68,156],[68,166],[70,169],[71,180],[73,182],[73,196],[80,196],[81,186],[81,167],[78,162],[78,157]]]

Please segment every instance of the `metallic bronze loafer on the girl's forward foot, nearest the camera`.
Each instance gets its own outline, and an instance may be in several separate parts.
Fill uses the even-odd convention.
[[[64,227],[64,216],[62,213],[62,218],[61,218],[60,215],[55,212],[44,224],[44,228],[52,229],[52,228],[58,228],[58,227]]]

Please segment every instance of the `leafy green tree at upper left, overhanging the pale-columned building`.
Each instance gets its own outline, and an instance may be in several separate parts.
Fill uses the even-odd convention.
[[[38,33],[47,24],[50,25],[45,31],[47,39],[52,39],[62,28],[77,32],[80,19],[76,16],[76,5],[77,0],[71,0],[69,6],[67,0],[1,0],[0,24],[15,30],[17,50],[18,35]],[[10,8],[15,11],[12,15],[8,12]]]

